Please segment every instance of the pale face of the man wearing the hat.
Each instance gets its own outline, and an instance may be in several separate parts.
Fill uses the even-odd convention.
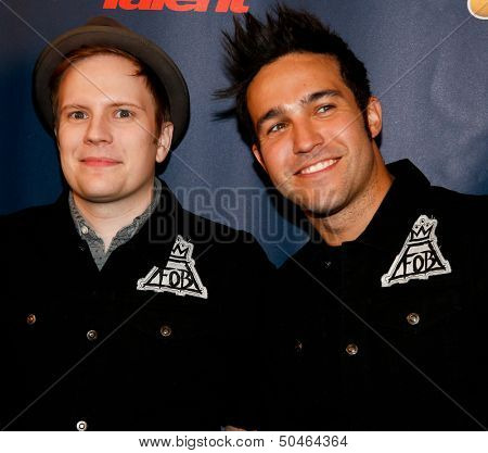
[[[156,105],[137,66],[99,54],[76,62],[59,87],[57,146],[75,201],[146,202],[156,162],[171,143],[172,125],[155,137]]]

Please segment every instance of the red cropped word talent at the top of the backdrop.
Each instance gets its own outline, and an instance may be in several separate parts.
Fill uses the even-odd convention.
[[[195,11],[205,13],[246,13],[249,7],[244,4],[246,0],[104,0],[104,10],[149,10],[162,11],[167,8],[171,11]]]

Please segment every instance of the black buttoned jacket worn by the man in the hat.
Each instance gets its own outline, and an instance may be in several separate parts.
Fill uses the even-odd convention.
[[[2,428],[257,425],[269,262],[248,234],[184,211],[164,186],[101,270],[67,193],[1,218],[0,241]]]

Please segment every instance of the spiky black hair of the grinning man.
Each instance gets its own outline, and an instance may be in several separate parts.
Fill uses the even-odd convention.
[[[320,53],[336,59],[341,75],[362,111],[364,126],[371,137],[365,114],[371,97],[368,72],[337,34],[314,15],[282,4],[277,4],[267,13],[266,23],[251,13],[244,14],[243,21],[234,16],[233,23],[233,36],[222,32],[226,71],[232,85],[216,91],[216,97],[235,98],[232,112],[248,144],[256,143],[257,137],[247,110],[247,87],[262,66],[292,52]]]

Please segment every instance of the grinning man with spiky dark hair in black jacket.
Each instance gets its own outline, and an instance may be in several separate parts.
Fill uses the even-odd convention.
[[[218,95],[313,227],[268,309],[269,427],[486,429],[487,197],[385,165],[367,70],[317,17],[278,5],[234,27]]]

